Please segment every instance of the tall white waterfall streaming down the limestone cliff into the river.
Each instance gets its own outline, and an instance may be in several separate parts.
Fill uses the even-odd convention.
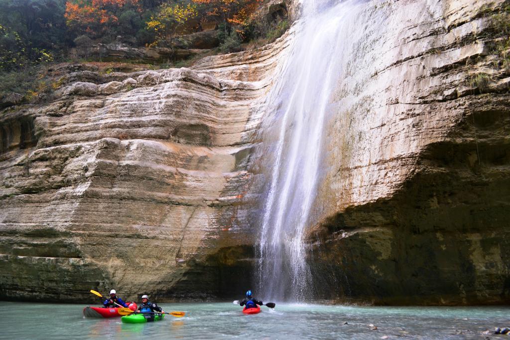
[[[361,1],[302,0],[289,59],[268,100],[261,154],[267,195],[259,234],[259,289],[265,299],[300,301],[311,280],[303,245],[314,223],[324,129],[342,80]]]

